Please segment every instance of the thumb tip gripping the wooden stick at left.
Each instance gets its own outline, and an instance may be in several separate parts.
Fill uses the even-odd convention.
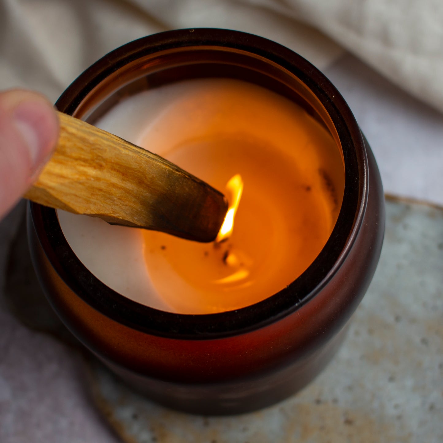
[[[0,93],[0,218],[31,186],[58,139],[58,117],[38,93]]]

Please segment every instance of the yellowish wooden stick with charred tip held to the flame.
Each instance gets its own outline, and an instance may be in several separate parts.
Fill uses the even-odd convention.
[[[57,148],[25,198],[115,225],[215,239],[227,210],[223,194],[159,155],[58,115]]]

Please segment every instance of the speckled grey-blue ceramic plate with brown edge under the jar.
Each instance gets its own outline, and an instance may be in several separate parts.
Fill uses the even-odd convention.
[[[49,314],[30,324],[17,284],[10,279],[17,315],[59,334]],[[442,442],[443,209],[387,197],[380,263],[345,344],[311,385],[271,408],[232,417],[174,412],[88,360],[93,398],[128,443]]]

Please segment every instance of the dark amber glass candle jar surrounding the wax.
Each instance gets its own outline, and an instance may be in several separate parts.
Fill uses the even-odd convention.
[[[52,307],[105,365],[171,408],[236,414],[291,395],[334,356],[379,259],[384,198],[373,154],[342,96],[298,54],[254,35],[189,29],[136,40],[89,67],[56,106],[94,123],[142,90],[213,77],[255,83],[294,101],[330,132],[342,155],[337,222],[291,284],[236,311],[164,312],[120,295],[89,272],[68,245],[55,210],[30,203],[28,235]]]

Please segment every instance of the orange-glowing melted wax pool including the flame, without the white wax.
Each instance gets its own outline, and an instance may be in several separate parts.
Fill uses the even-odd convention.
[[[338,217],[344,170],[326,129],[284,97],[231,80],[195,85],[171,95],[137,144],[226,189],[229,211],[209,244],[144,230],[144,259],[162,309],[209,314],[257,303],[312,263]]]

